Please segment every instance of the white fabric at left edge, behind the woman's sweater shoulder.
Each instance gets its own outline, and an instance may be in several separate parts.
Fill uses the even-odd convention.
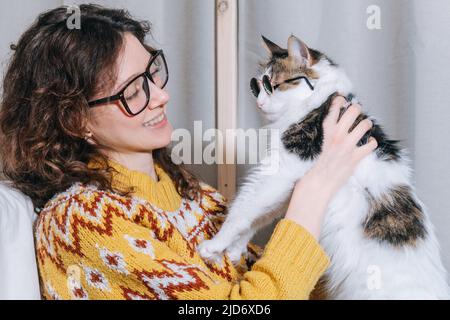
[[[0,299],[40,299],[30,198],[0,183]]]

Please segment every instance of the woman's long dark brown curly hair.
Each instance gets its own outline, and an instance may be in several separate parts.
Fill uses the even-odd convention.
[[[136,21],[126,10],[79,8],[81,29],[67,27],[66,6],[40,14],[17,45],[11,45],[15,52],[3,80],[3,173],[32,199],[37,211],[75,182],[120,192],[113,190],[107,158],[84,139],[88,100],[99,90],[99,79],[114,79],[124,32],[150,49],[144,43],[148,21]],[[198,180],[171,161],[167,148],[153,150],[153,157],[180,195],[197,196]],[[89,168],[92,158],[103,163],[103,169]]]

